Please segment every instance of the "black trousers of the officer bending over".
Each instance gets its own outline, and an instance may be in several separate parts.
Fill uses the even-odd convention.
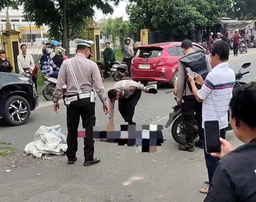
[[[118,110],[125,122],[132,124],[135,107],[140,100],[141,90],[136,90],[128,98],[120,98],[118,100]]]

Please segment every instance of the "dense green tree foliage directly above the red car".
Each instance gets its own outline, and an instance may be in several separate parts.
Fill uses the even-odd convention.
[[[231,3],[231,0],[135,0],[126,10],[136,30],[149,28],[167,35],[181,35],[217,24],[226,16]]]

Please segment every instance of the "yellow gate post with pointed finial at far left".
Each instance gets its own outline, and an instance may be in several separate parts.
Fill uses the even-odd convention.
[[[18,55],[19,55],[19,41],[20,32],[12,30],[12,25],[10,24],[8,11],[6,12],[6,29],[3,31],[3,43],[5,46],[6,57],[12,64],[12,72],[19,73],[18,68]]]

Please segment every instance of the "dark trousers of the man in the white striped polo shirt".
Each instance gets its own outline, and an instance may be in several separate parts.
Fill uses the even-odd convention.
[[[221,129],[220,130],[220,137],[222,137],[223,139],[225,139],[225,134],[226,131],[225,129]],[[204,138],[204,136],[203,136]],[[205,145],[205,144],[204,144]],[[216,170],[217,167],[217,163],[220,160],[217,157],[212,157],[210,154],[206,153],[206,149],[204,147],[204,159],[205,159],[205,163],[206,163],[206,168],[207,168],[207,172],[208,172],[208,178],[209,178],[209,182],[211,184],[212,182],[212,177],[214,175],[214,172]]]

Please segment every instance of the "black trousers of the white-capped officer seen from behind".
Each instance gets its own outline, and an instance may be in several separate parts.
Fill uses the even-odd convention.
[[[95,102],[90,102],[90,98],[76,100],[67,106],[68,149],[66,155],[68,159],[74,159],[76,156],[80,116],[82,118],[83,128],[86,130],[86,137],[84,138],[84,158],[85,161],[92,161],[94,155],[93,126],[95,126],[96,118]]]

